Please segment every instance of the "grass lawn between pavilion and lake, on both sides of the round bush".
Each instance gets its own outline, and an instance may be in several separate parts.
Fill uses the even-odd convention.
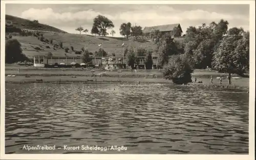
[[[20,73],[18,73],[18,68],[20,68]],[[81,68],[35,68],[33,66],[26,67],[14,64],[6,64],[5,74],[14,74],[16,77],[7,77],[6,82],[34,82],[36,79],[43,79],[44,81],[53,81],[56,82],[59,78],[62,81],[88,81],[88,79],[95,79],[93,74],[99,74],[104,72],[104,70],[95,70],[91,72],[91,69]],[[30,77],[25,77],[25,75],[29,75]],[[156,75],[156,77],[154,77]],[[72,78],[72,76],[76,76],[76,78]],[[192,79],[194,81],[195,77],[197,77],[197,81],[202,81],[202,85],[210,86],[210,76],[214,77],[213,82],[215,87],[225,87],[228,86],[227,79],[222,80],[222,84],[219,83],[219,79],[217,77],[226,77],[227,74],[219,73],[215,70],[209,71],[207,69],[196,69],[192,74]],[[231,77],[237,77],[238,75],[234,74]],[[161,70],[153,69],[153,70],[137,70],[135,71],[124,69],[122,72],[114,71],[106,71],[106,73],[102,74],[102,76],[97,76],[98,81],[111,81],[111,82],[134,82],[137,80],[140,82],[154,82],[154,83],[172,83],[169,80],[163,79]],[[249,78],[241,77],[241,79],[233,79],[231,78],[232,84],[229,87],[242,87],[249,88]],[[200,84],[198,84],[200,85]]]

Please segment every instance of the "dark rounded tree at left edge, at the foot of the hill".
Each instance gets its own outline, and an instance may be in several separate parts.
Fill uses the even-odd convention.
[[[15,63],[30,61],[23,53],[21,44],[17,39],[8,39],[5,44],[5,62]]]

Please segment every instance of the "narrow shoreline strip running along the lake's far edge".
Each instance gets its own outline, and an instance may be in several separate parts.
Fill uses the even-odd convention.
[[[97,79],[97,82],[95,81]],[[37,81],[39,80],[39,81]],[[42,80],[42,81],[40,81]],[[141,77],[133,77],[133,78],[124,78],[124,77],[90,77],[90,76],[15,76],[15,77],[7,77],[6,76],[6,84],[28,84],[28,83],[52,83],[52,84],[73,84],[73,83],[82,83],[82,84],[137,84],[137,81],[140,81],[140,84],[174,84],[172,81],[163,79],[163,78],[141,78]],[[183,85],[179,85],[183,86]],[[190,87],[206,87],[210,89],[241,89],[241,90],[249,90],[249,87],[236,85],[236,84],[210,84],[210,83],[187,83],[184,86]]]

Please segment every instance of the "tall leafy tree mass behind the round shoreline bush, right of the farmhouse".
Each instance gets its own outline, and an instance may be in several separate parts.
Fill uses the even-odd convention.
[[[223,19],[218,23],[211,22],[208,26],[203,23],[198,28],[187,28],[184,53],[193,59],[195,68],[211,67],[212,54],[220,45],[227,28],[228,22]]]

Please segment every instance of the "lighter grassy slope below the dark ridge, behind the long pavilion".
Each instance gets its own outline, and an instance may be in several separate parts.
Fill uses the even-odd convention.
[[[45,56],[48,52],[52,52],[53,56],[67,56],[77,57],[74,51],[71,50],[71,46],[74,47],[74,50],[81,50],[82,47],[87,48],[91,52],[98,51],[98,44],[102,43],[103,49],[108,52],[108,56],[111,56],[112,53],[115,53],[116,56],[122,56],[123,47],[122,43],[125,43],[125,46],[133,46],[134,49],[138,47],[144,47],[147,50],[154,50],[156,45],[152,42],[138,42],[131,41],[125,38],[116,38],[116,37],[94,37],[91,35],[78,35],[78,34],[65,34],[65,33],[44,33],[44,37],[47,39],[53,39],[53,44],[58,44],[59,41],[63,42],[63,48],[70,48],[69,53],[65,52],[63,48],[53,49],[53,44],[46,42],[41,42],[34,36],[13,36],[13,39],[17,39],[20,44],[22,44],[23,53],[28,57],[33,57],[36,55]],[[50,47],[50,48],[47,48]],[[43,50],[36,50],[35,47],[39,47]]]

